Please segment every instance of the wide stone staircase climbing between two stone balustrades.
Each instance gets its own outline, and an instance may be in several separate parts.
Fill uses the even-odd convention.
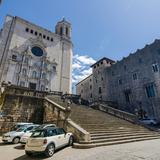
[[[62,102],[58,96],[52,96],[50,99],[64,107],[67,106],[67,103]],[[76,148],[91,148],[160,138],[158,132],[84,105],[72,104],[71,110],[70,118],[90,133],[90,141],[79,141],[74,144]]]

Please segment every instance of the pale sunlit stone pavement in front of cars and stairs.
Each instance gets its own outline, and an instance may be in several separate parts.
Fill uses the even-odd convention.
[[[160,160],[160,140],[149,140],[92,149],[67,147],[57,151],[53,157],[43,155],[27,157],[24,148],[0,143],[0,160]]]

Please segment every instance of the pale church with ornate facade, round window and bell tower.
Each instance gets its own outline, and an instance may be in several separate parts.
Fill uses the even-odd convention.
[[[65,19],[54,33],[8,15],[0,31],[0,83],[71,93],[72,47]]]

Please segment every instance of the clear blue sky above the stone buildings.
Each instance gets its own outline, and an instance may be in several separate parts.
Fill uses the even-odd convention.
[[[95,60],[120,60],[160,38],[160,0],[4,0],[0,27],[6,14],[53,31],[62,17],[70,21],[75,75],[86,72]],[[82,63],[79,57],[90,63]]]

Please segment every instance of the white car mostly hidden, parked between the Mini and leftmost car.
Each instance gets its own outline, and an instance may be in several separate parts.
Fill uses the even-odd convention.
[[[33,128],[31,131],[28,131],[26,133],[23,134],[23,136],[21,137],[20,139],[20,143],[23,145],[23,144],[26,144],[28,138],[32,135],[32,133],[36,130],[36,129],[44,129],[44,128],[47,128],[47,127],[56,127],[55,124],[42,124],[42,125],[39,125],[38,127],[36,128]]]

